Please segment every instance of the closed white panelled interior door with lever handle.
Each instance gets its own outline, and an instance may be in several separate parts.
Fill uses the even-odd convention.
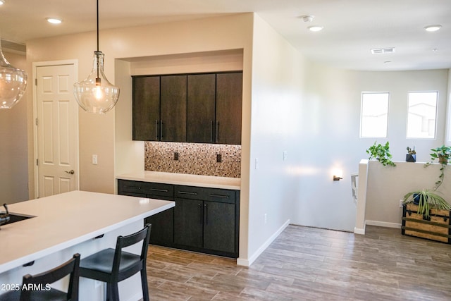
[[[78,189],[75,64],[36,67],[37,197]]]

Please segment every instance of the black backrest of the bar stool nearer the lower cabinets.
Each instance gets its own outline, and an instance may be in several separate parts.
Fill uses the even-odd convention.
[[[149,247],[149,239],[150,239],[150,229],[152,225],[147,223],[144,228],[136,233],[132,233],[126,236],[118,236],[116,241],[116,251],[114,253],[113,259],[113,269],[111,270],[111,274],[113,277],[118,276],[119,266],[121,265],[121,254],[122,249],[124,247],[130,247],[130,245],[135,245],[138,242],[142,242],[141,254],[140,254],[140,263],[135,264],[135,266],[130,266],[130,269],[127,271],[126,275],[122,275],[119,278],[126,278],[128,275],[132,275],[137,273],[142,269],[142,265],[146,264],[147,259],[147,249]],[[116,278],[116,277],[115,277]]]

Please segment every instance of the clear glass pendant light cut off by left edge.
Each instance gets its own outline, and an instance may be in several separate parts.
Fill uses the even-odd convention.
[[[25,93],[27,73],[14,68],[1,51],[0,39],[0,109],[11,109]]]

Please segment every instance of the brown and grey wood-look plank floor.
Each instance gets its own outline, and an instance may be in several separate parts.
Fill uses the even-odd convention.
[[[451,300],[451,245],[288,226],[249,268],[149,246],[151,300]]]

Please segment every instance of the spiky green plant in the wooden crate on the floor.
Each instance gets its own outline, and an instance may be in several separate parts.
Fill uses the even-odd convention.
[[[450,210],[451,205],[436,192],[431,190],[418,190],[408,192],[403,197],[403,204],[418,203],[416,213],[423,214],[425,219],[431,219],[430,209]]]

